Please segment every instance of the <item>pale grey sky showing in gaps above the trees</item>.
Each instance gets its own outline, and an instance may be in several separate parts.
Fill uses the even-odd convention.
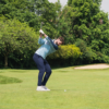
[[[55,3],[58,0],[48,0],[48,1]],[[68,0],[60,0],[60,2],[62,4],[62,7],[64,7],[66,4]],[[109,0],[102,0],[100,10],[102,10],[106,13],[108,12],[108,14],[109,14]],[[109,17],[109,15],[108,15],[108,17]]]

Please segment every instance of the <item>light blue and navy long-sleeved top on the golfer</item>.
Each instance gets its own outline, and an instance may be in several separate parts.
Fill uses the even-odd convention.
[[[58,46],[51,40],[50,37],[39,38],[38,44],[41,45],[39,49],[36,50],[35,53],[41,56],[44,59],[50,53],[53,53],[58,50]]]

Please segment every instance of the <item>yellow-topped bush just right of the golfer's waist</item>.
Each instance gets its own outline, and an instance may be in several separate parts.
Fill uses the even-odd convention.
[[[51,65],[73,65],[82,55],[75,45],[60,46],[59,50],[48,57]]]

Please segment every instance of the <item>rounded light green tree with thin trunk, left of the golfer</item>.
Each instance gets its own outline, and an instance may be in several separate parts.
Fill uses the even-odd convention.
[[[0,52],[4,56],[5,68],[11,53],[15,51],[27,57],[28,51],[36,49],[36,33],[26,23],[21,23],[15,19],[0,19]]]

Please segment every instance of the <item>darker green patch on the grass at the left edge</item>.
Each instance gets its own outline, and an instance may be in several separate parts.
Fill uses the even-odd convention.
[[[0,75],[0,84],[22,83],[21,80],[15,77],[8,77]]]

